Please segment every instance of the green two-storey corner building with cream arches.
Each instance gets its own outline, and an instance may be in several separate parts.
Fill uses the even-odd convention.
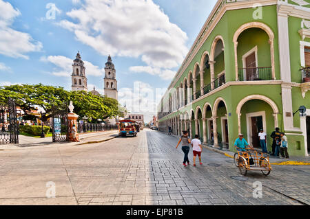
[[[158,126],[231,151],[238,133],[260,148],[260,129],[270,151],[279,127],[291,155],[309,156],[310,0],[219,0],[158,105]]]

